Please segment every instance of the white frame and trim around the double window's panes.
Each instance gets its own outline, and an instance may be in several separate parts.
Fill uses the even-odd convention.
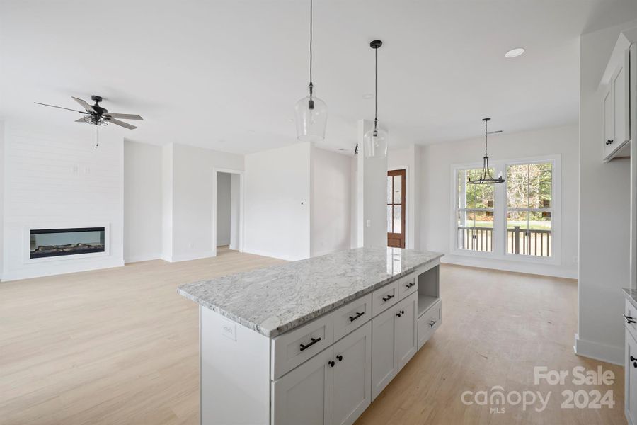
[[[541,263],[561,265],[561,155],[551,154],[539,157],[525,157],[515,159],[500,159],[490,161],[490,167],[494,170],[494,175],[502,172],[507,176],[507,166],[524,165],[550,162],[552,165],[551,181],[551,254],[553,256],[532,256],[526,254],[509,254],[507,252],[507,182],[496,183],[493,194],[493,250],[492,251],[471,251],[460,249],[457,237],[457,217],[460,212],[458,205],[458,172],[466,169],[481,169],[482,162],[471,162],[465,164],[452,164],[451,166],[451,196],[452,202],[450,210],[451,229],[449,232],[449,253],[452,255],[468,256],[482,259],[519,261],[524,263]],[[466,209],[466,208],[465,208]],[[515,210],[515,208],[514,208]]]

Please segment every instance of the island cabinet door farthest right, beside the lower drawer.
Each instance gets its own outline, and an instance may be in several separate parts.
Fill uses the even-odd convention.
[[[418,351],[418,294],[413,293],[398,303],[396,310],[396,358],[401,370]]]

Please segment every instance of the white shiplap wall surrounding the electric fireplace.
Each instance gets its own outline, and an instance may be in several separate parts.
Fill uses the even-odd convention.
[[[13,123],[11,123],[13,124]],[[86,132],[5,126],[4,280],[124,264],[123,139],[101,131],[94,148]],[[110,227],[110,253],[29,262],[29,227]]]

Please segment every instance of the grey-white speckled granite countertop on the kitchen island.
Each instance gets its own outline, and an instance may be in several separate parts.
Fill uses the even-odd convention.
[[[440,257],[412,249],[357,248],[188,283],[178,293],[272,338]]]

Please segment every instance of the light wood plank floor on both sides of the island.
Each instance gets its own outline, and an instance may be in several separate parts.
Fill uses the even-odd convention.
[[[0,283],[0,424],[198,424],[197,306],[176,287],[276,263],[222,250]],[[357,424],[626,424],[623,369],[573,354],[574,280],[443,266],[441,282],[442,326]],[[597,389],[615,407],[561,409],[562,390],[582,388],[533,385],[535,365],[612,370]],[[549,407],[460,401],[495,385],[552,391]]]

